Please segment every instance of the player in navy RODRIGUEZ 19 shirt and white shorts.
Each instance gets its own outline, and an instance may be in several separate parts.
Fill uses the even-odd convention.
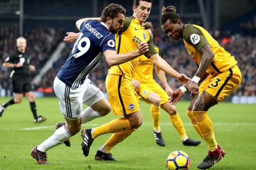
[[[111,107],[104,94],[87,78],[103,56],[108,65],[112,66],[132,60],[148,51],[148,44],[141,43],[136,51],[116,53],[114,34],[123,27],[125,14],[126,10],[121,5],[110,4],[103,10],[101,22],[84,19],[76,21],[76,27],[80,30],[79,36],[70,56],[54,79],[54,92],[59,99],[60,111],[66,123],[32,150],[31,155],[38,164],[48,164],[46,152],[78,133],[81,123],[110,112]],[[84,111],[82,104],[88,106]]]

